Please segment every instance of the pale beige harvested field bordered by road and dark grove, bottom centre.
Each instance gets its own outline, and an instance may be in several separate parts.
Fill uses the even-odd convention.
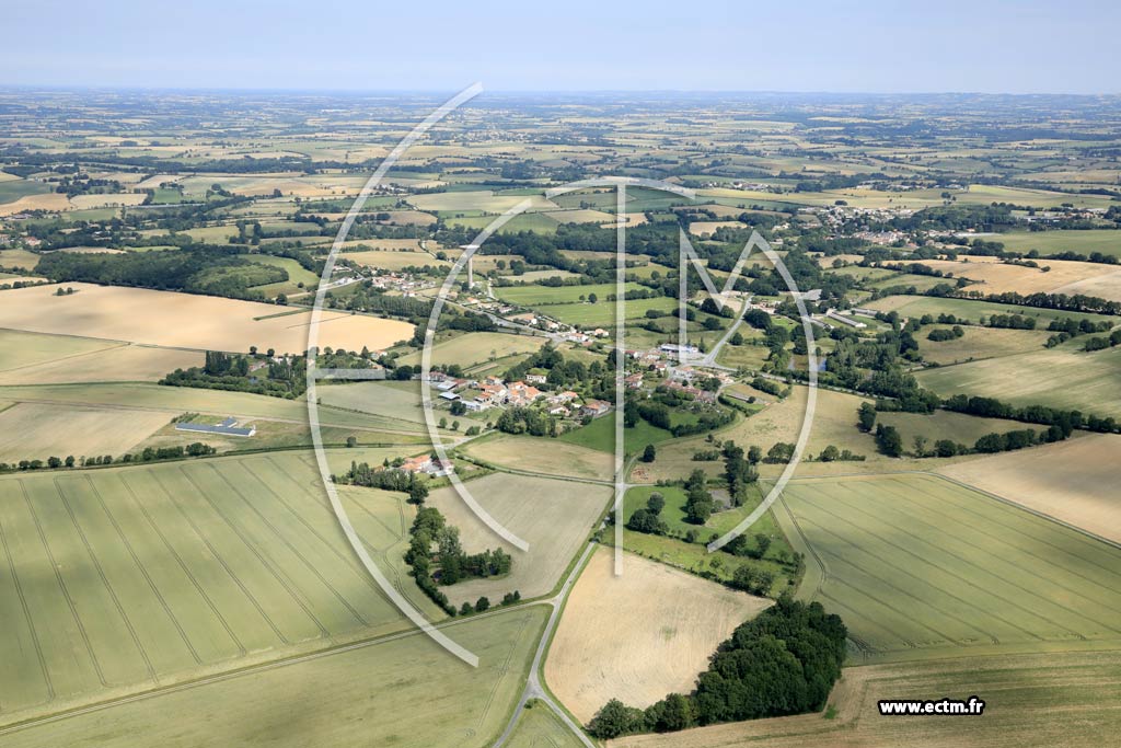
[[[687,693],[716,645],[770,600],[628,554],[622,576],[611,548],[592,556],[568,597],[545,680],[582,722],[621,699],[648,707]]]

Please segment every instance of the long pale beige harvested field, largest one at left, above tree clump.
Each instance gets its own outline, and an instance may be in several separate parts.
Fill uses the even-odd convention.
[[[167,290],[70,285],[77,290],[70,296],[55,296],[53,286],[0,294],[0,327],[196,350],[307,349],[308,311]],[[378,350],[411,335],[407,322],[327,312],[319,345]]]

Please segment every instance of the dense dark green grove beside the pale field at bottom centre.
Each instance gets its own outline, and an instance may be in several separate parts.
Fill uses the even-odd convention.
[[[841,618],[821,603],[784,595],[720,645],[692,693],[671,693],[645,710],[612,699],[587,731],[609,740],[818,711],[841,676],[846,636]]]

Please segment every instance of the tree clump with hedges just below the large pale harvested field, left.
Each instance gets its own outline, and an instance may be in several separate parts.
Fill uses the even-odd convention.
[[[265,361],[266,364],[250,371],[252,364],[260,361]],[[256,354],[206,351],[204,366],[176,369],[160,379],[159,384],[295,399],[307,390],[307,366],[302,355],[274,361],[271,349],[270,354],[263,358]]]

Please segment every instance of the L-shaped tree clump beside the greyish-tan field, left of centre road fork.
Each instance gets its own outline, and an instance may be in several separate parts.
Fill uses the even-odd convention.
[[[513,560],[501,548],[476,554],[465,553],[460,544],[458,528],[448,525],[438,509],[421,507],[409,528],[409,550],[405,553],[405,563],[409,565],[417,587],[448,616],[455,616],[457,612],[467,615],[487,610],[490,608],[490,600],[482,597],[473,606],[464,603],[456,611],[438,585],[508,574]],[[512,604],[519,600],[521,593],[515,590],[502,599],[502,604]]]

